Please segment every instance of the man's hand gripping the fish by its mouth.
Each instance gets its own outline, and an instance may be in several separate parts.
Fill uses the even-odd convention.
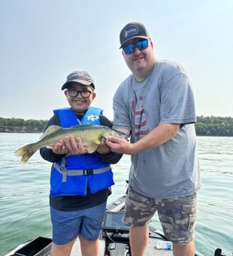
[[[120,139],[113,136],[108,136],[106,145],[111,151],[120,154],[135,154],[134,144],[131,144],[126,139]]]

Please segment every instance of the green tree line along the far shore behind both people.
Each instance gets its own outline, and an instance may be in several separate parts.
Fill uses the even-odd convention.
[[[0,133],[43,133],[47,120],[0,117]],[[233,117],[197,117],[197,136],[233,136]]]

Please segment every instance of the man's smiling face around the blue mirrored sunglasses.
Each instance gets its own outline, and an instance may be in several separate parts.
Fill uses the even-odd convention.
[[[150,41],[150,39],[147,39],[148,47],[146,49],[138,49],[137,42],[142,40],[145,39],[134,38],[132,41],[128,41],[126,42],[126,44],[123,45],[125,47],[132,43],[135,44],[135,52],[131,54],[126,54],[123,50],[123,56],[129,69],[132,71],[136,78],[140,79],[144,78],[145,75],[148,75],[155,61],[155,56],[153,53],[153,43],[152,41]]]

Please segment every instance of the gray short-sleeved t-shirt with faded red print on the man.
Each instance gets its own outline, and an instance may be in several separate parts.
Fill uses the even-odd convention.
[[[135,191],[166,199],[198,190],[195,102],[191,82],[180,64],[156,59],[144,81],[130,75],[116,90],[113,110],[113,128],[129,130],[132,143],[161,123],[181,124],[173,139],[132,155],[129,184]]]

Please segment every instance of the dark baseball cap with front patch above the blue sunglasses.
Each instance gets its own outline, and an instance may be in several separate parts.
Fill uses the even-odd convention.
[[[150,38],[150,35],[147,32],[144,24],[139,22],[132,22],[124,26],[120,32],[120,48],[123,47],[123,44],[125,44],[126,41],[129,41],[133,38]]]

